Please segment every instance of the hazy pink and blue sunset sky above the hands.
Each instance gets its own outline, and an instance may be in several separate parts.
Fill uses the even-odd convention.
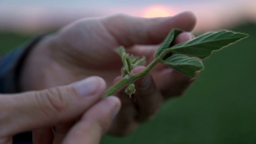
[[[197,17],[195,32],[256,23],[256,0],[0,0],[0,31],[34,33],[84,17],[173,16],[187,10]]]

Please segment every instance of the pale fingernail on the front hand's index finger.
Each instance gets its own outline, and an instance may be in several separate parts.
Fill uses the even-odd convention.
[[[98,78],[90,77],[77,82],[74,87],[80,96],[92,96],[97,92],[99,81]]]

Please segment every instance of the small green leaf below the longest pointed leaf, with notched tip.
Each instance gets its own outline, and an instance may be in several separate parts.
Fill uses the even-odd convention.
[[[174,54],[165,61],[161,61],[163,64],[166,64],[175,70],[194,78],[195,72],[202,70],[204,65],[198,58],[189,57],[183,54]]]

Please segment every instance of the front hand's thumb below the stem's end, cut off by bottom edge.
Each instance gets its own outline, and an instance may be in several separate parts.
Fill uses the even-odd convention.
[[[92,106],[68,132],[63,144],[98,144],[118,113],[121,102],[114,96]]]

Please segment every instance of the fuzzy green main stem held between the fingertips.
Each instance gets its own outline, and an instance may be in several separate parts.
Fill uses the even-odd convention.
[[[110,87],[104,94],[103,97],[107,97],[110,96],[112,94],[114,94],[115,92],[117,92],[118,90],[120,90],[120,88],[134,82],[135,80],[137,80],[138,78],[141,78],[143,76],[146,76],[150,70],[152,70],[152,68],[160,61],[160,59],[155,59],[153,62],[151,62],[146,69],[144,69],[142,72],[135,74],[129,78],[123,78],[122,80],[120,80],[119,82],[117,82],[116,84],[114,84],[112,87]]]

